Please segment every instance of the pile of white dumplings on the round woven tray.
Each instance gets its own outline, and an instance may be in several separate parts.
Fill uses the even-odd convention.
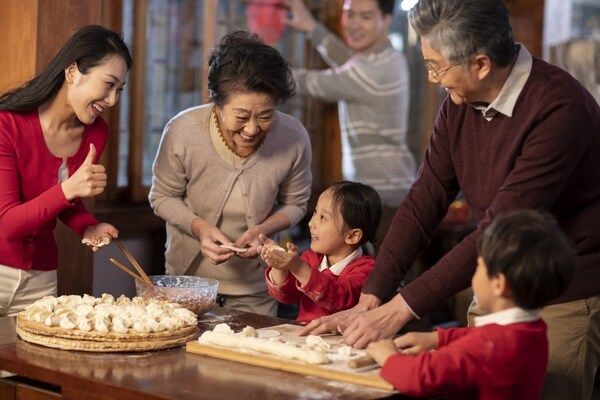
[[[196,326],[196,315],[179,304],[141,297],[104,293],[97,298],[46,296],[28,306],[21,315],[32,322],[64,330],[100,333],[150,333]]]

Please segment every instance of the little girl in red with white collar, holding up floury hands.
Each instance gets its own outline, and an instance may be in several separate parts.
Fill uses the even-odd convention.
[[[299,256],[292,243],[285,251],[261,235],[269,294],[281,303],[300,303],[299,322],[353,307],[374,266],[361,245],[375,236],[380,218],[381,200],[372,187],[347,181],[330,186],[308,223],[310,250]]]

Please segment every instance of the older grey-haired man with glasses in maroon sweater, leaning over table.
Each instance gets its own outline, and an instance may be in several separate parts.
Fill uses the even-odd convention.
[[[544,398],[588,398],[600,360],[598,104],[568,73],[513,42],[502,0],[421,0],[409,18],[429,80],[448,96],[359,304],[305,332],[339,327],[355,347],[391,337],[469,286],[475,242],[497,215],[544,210],[578,258],[566,293],[542,311],[550,342]],[[477,230],[396,294],[461,190]]]

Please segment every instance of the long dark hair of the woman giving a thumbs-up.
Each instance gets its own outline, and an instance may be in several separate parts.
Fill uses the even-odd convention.
[[[52,98],[65,80],[65,69],[73,62],[82,74],[102,63],[107,56],[117,55],[131,68],[129,49],[121,36],[99,25],[79,29],[65,43],[41,74],[23,86],[0,96],[0,110],[25,111],[39,107]]]

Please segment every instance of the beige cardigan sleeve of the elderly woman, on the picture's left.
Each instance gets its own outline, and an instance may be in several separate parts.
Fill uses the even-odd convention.
[[[192,235],[192,221],[196,214],[183,201],[188,184],[184,154],[185,149],[177,142],[177,131],[171,120],[165,126],[152,165],[152,186],[148,200],[156,215]]]

